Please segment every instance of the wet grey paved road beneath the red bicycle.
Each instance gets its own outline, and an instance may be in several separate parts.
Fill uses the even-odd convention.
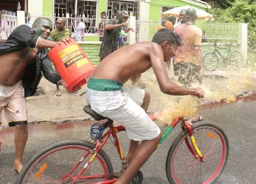
[[[204,121],[221,126],[229,138],[230,153],[224,173],[217,183],[255,183],[256,177],[256,96],[252,99],[241,99],[227,105],[204,107],[200,114]],[[24,161],[28,160],[38,149],[52,142],[66,138],[89,139],[89,125],[91,121],[63,124],[42,123],[30,124],[30,137],[27,143]],[[148,163],[142,167],[144,174],[143,183],[167,183],[165,174],[165,158],[173,138],[173,133],[156,152],[153,153]],[[127,137],[122,134],[122,148],[128,145]],[[12,170],[14,158],[13,128],[1,132],[4,147],[0,151],[0,183],[14,183],[17,174]],[[117,156],[112,146],[105,149],[114,162],[114,168],[119,166],[114,159]],[[124,150],[127,152],[127,149]]]

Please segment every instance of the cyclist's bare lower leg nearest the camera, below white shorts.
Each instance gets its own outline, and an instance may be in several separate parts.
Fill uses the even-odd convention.
[[[134,177],[137,171],[144,165],[144,163],[150,158],[152,153],[155,151],[159,141],[162,138],[162,133],[159,134],[157,138],[148,141],[142,141],[135,150],[128,167],[125,172],[117,180],[116,184],[126,184],[130,183],[131,179]]]

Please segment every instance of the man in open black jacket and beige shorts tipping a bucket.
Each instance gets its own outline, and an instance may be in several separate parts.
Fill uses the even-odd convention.
[[[62,84],[60,76],[51,68],[49,51],[46,49],[58,45],[57,42],[46,40],[51,31],[52,22],[48,18],[37,18],[32,29],[27,25],[18,26],[7,41],[0,45],[0,121],[4,110],[9,126],[15,126],[13,169],[18,173],[24,166],[22,155],[28,137],[27,105],[24,97],[35,94],[41,71],[46,79]],[[61,42],[66,44],[69,40],[70,38],[63,38]]]

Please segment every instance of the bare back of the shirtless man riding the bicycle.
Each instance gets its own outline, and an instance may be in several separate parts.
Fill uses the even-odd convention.
[[[157,56],[155,60],[151,59],[152,55]],[[164,57],[159,57],[161,55],[162,49],[157,43],[141,42],[136,46],[125,46],[105,57],[91,77],[125,83],[128,79],[147,71],[152,67],[152,63],[164,66]]]

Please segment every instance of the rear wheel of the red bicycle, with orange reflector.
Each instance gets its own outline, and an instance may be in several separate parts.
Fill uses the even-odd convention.
[[[101,150],[77,179],[91,159],[95,145],[82,140],[49,144],[26,163],[16,183],[95,183],[113,178],[113,167]],[[80,163],[80,164],[79,164]]]

